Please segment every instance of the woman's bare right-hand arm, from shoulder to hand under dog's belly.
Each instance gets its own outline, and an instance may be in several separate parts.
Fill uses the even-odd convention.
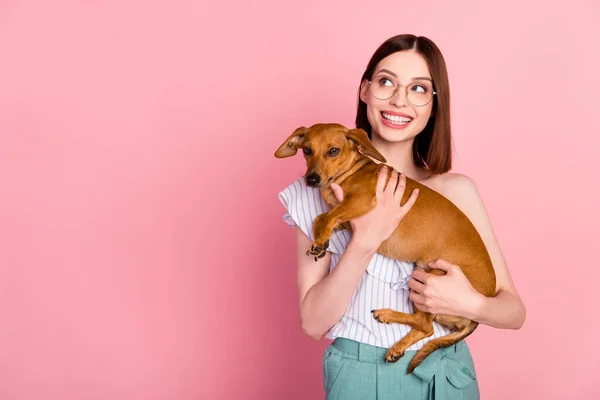
[[[411,300],[423,311],[460,315],[495,328],[519,329],[525,322],[525,305],[512,280],[477,186],[465,175],[448,174],[446,179],[442,194],[467,215],[490,254],[496,273],[496,296],[481,295],[460,268],[439,260],[434,267],[447,271],[447,275],[433,276],[415,271],[415,279],[409,287],[417,293],[411,293]]]

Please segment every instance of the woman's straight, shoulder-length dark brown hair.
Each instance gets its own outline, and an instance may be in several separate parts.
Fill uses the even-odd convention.
[[[421,54],[431,73],[437,94],[433,98],[432,118],[415,137],[413,159],[417,166],[427,168],[432,174],[442,174],[452,168],[452,136],[450,134],[450,85],[446,62],[440,49],[430,39],[415,35],[398,35],[386,40],[375,51],[360,82],[371,80],[377,64],[390,54],[402,50],[414,50]],[[364,129],[371,138],[371,124],[367,118],[367,105],[360,99],[356,127]]]

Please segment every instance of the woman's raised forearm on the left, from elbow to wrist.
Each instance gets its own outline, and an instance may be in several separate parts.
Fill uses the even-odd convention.
[[[333,271],[307,292],[300,306],[300,318],[303,331],[313,340],[321,340],[342,318],[374,255],[375,250],[351,239]]]

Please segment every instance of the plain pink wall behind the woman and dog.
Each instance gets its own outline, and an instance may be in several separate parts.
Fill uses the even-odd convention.
[[[482,398],[600,398],[600,7],[549,3],[0,3],[0,399],[321,398],[273,152],[406,32],[528,309]]]

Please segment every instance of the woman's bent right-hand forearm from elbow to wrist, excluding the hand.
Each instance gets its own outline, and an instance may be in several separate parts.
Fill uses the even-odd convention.
[[[481,296],[472,320],[500,329],[519,329],[525,322],[523,302],[509,291],[500,289],[495,297]]]

